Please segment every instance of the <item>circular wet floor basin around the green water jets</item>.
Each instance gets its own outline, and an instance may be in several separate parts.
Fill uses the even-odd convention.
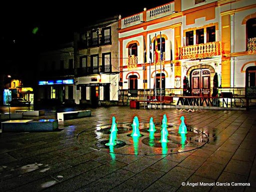
[[[139,122],[140,136],[132,135],[131,123],[116,123],[114,145],[106,145],[110,139],[111,124],[92,127],[77,135],[84,146],[116,154],[161,155],[194,150],[208,142],[208,136],[187,125],[187,133],[178,133],[179,125],[166,124],[167,135],[162,139],[161,124],[155,123],[155,131],[149,130],[148,122]]]

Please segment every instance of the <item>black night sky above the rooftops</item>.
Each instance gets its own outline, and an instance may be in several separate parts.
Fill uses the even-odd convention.
[[[89,4],[85,0],[4,2],[0,11],[0,67],[18,66],[18,73],[27,71],[23,67],[28,66],[31,72],[39,51],[72,41],[73,31],[98,19],[119,14],[125,17],[170,1],[129,0],[120,1],[119,5],[106,0]]]

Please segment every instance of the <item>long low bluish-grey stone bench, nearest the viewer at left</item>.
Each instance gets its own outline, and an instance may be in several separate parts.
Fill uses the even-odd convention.
[[[19,119],[1,122],[2,132],[52,131],[58,128],[56,119]]]

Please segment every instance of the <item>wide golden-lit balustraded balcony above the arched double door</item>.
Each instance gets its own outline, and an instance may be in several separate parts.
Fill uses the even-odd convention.
[[[207,42],[179,48],[179,59],[202,59],[221,55],[221,42]]]

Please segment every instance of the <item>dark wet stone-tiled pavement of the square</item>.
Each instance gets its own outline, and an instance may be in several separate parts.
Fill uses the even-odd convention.
[[[55,119],[57,111],[74,109],[80,108],[25,118]],[[59,121],[56,131],[1,132],[0,191],[256,191],[255,109],[84,109],[92,116]],[[164,114],[166,143],[160,142]],[[113,116],[117,144],[106,147]],[[141,134],[136,139],[134,116]]]

